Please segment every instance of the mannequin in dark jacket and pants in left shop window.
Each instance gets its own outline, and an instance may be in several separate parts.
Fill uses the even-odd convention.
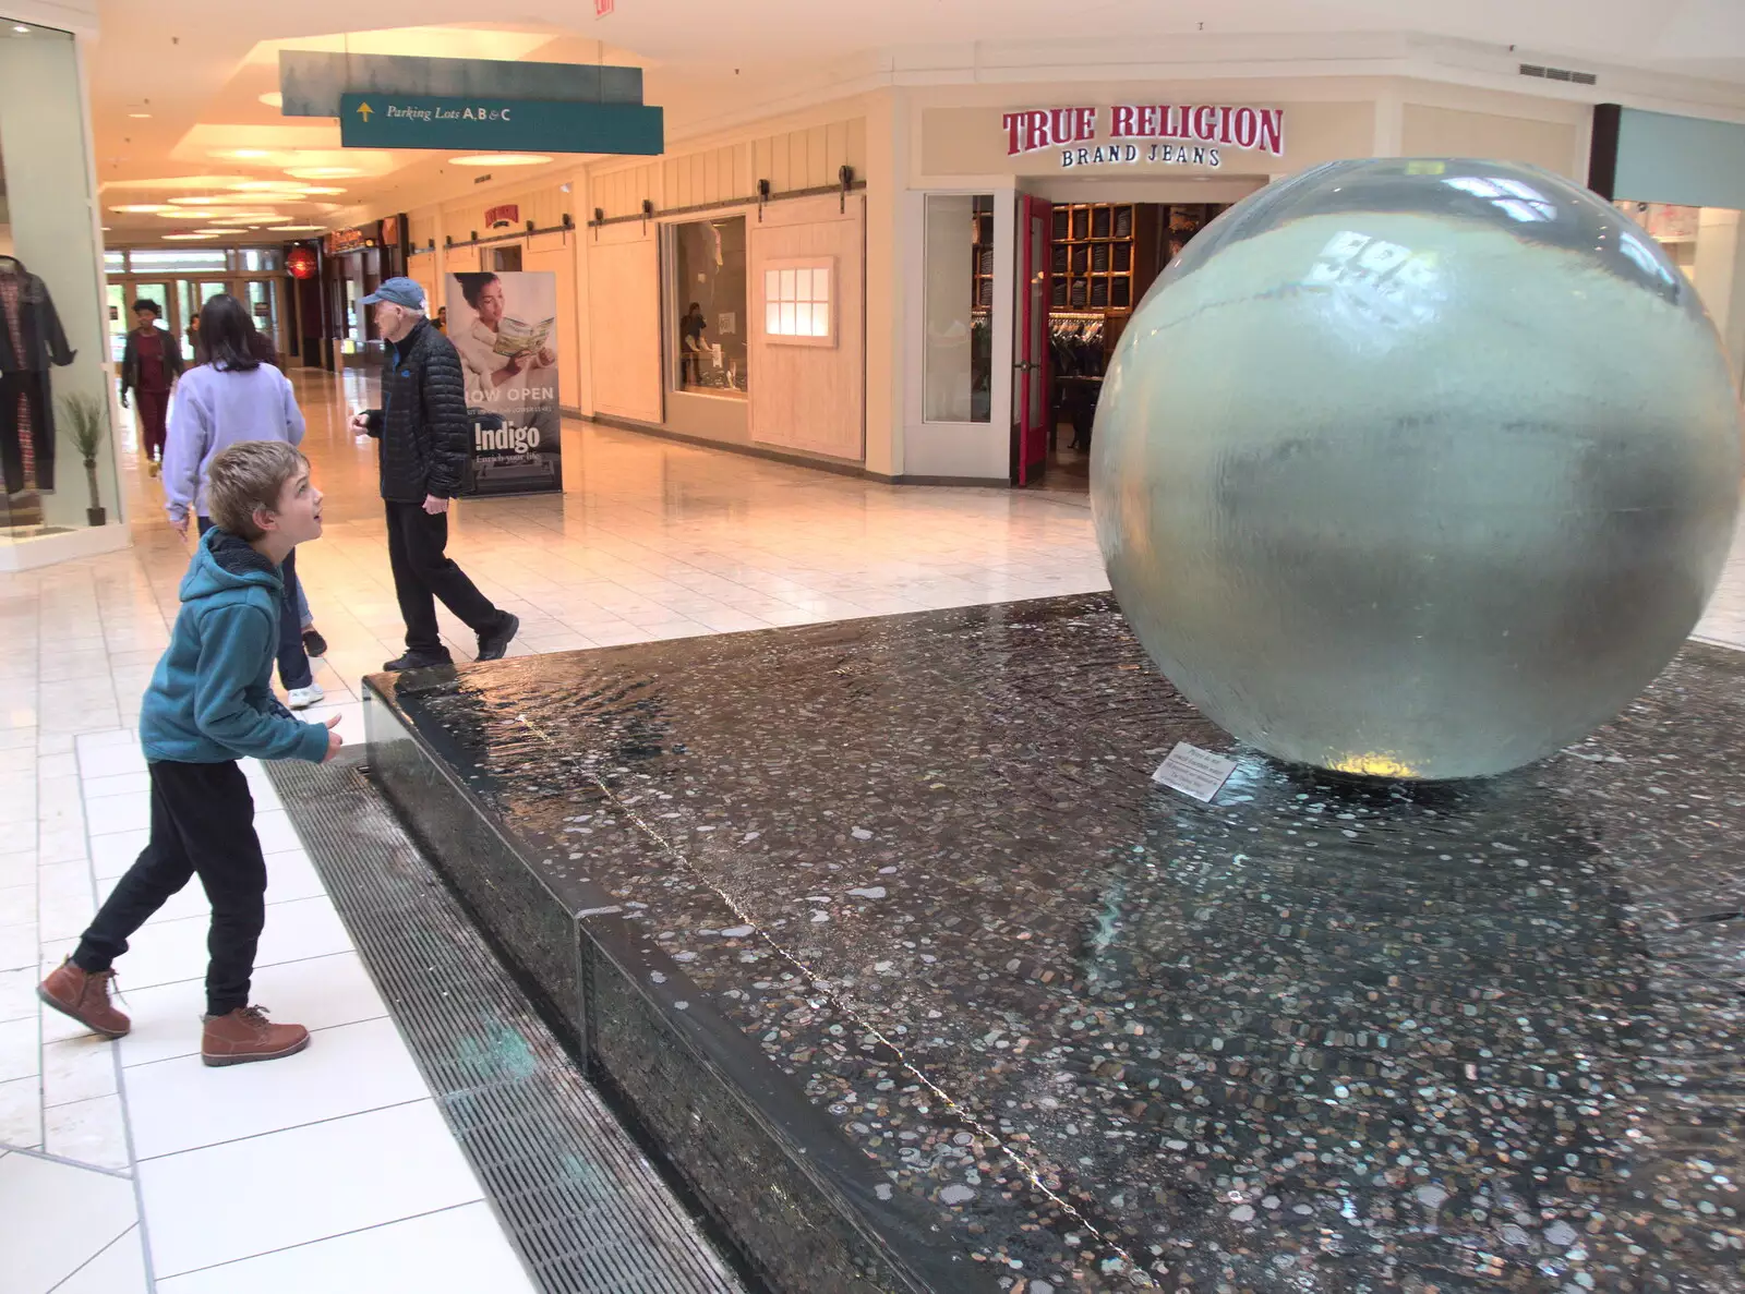
[[[7,494],[54,488],[49,368],[73,363],[47,286],[17,256],[0,256],[0,466]]]

